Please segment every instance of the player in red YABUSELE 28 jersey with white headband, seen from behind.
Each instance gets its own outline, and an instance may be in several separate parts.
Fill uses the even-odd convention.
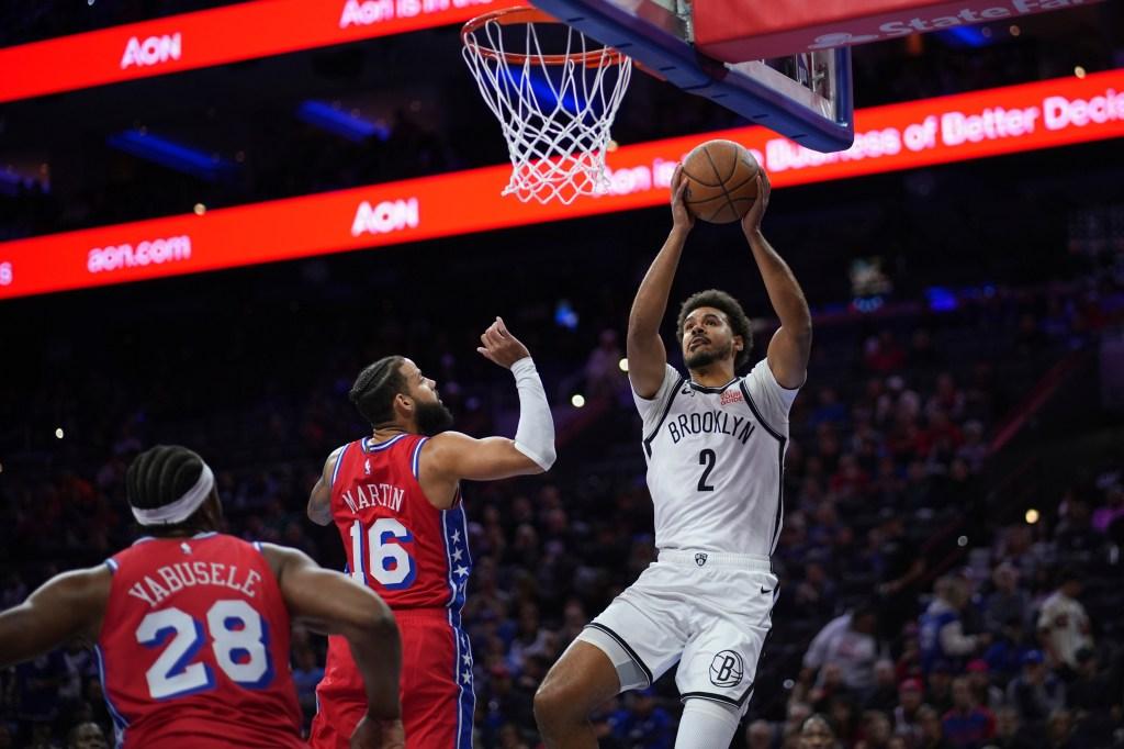
[[[402,748],[398,629],[373,592],[294,549],[218,533],[215,477],[185,448],[142,453],[126,485],[148,535],[0,613],[0,668],[84,641],[118,747],[297,749],[289,622],[300,617],[355,655],[365,698],[352,749]]]

